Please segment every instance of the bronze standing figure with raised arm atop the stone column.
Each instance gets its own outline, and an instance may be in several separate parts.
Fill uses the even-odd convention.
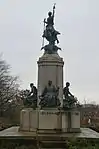
[[[45,24],[46,24],[46,28],[44,29],[44,33],[43,33],[42,37],[43,37],[43,39],[46,38],[46,40],[49,42],[49,44],[45,46],[46,48],[48,48],[47,50],[45,50],[45,53],[47,51],[48,54],[54,54],[55,49],[57,47],[56,46],[54,48],[55,41],[57,41],[57,44],[59,43],[57,35],[59,35],[60,33],[54,29],[54,14],[55,14],[55,5],[53,6],[53,13],[52,12],[48,13],[47,21],[46,21],[46,19],[44,19],[44,28],[45,28]],[[57,53],[58,49],[60,49],[60,48],[57,47],[56,53]]]

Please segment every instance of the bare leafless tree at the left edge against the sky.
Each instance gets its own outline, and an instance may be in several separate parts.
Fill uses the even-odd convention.
[[[9,108],[17,95],[18,77],[10,75],[10,66],[0,57],[0,116]]]

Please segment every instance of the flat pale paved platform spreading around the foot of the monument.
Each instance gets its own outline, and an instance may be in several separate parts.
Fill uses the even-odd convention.
[[[61,134],[38,134],[38,136],[43,137],[76,137],[76,138],[99,138],[99,133],[89,129],[81,128],[81,133],[61,133]],[[19,132],[19,127],[11,127],[0,131],[0,138],[35,138],[37,137],[36,132]]]

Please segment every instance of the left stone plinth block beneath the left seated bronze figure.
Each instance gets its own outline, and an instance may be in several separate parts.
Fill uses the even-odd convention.
[[[38,111],[26,108],[20,114],[20,131],[35,131],[38,127]]]

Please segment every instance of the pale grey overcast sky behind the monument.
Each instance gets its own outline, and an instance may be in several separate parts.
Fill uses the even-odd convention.
[[[0,0],[0,52],[24,89],[37,84],[43,19],[55,2],[64,84],[80,101],[99,103],[99,0]]]

